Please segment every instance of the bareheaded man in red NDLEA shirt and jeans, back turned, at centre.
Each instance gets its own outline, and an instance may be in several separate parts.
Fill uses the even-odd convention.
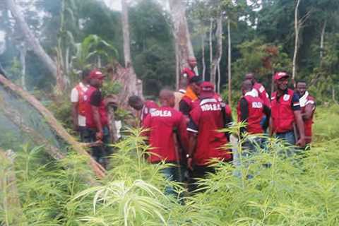
[[[145,118],[143,127],[150,129],[144,135],[148,138],[150,146],[150,156],[148,160],[151,163],[165,161],[174,164],[162,170],[162,173],[169,180],[182,182],[183,171],[180,167],[180,153],[177,143],[186,152],[188,148],[188,137],[186,131],[186,120],[184,115],[174,109],[174,94],[169,90],[160,92],[161,107],[150,112]],[[177,132],[177,133],[176,133]],[[166,194],[177,195],[172,187],[166,188]]]

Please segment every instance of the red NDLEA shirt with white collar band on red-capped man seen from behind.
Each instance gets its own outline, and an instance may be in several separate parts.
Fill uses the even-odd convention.
[[[218,130],[224,127],[221,102],[215,98],[203,99],[190,115],[187,131],[198,133],[193,160],[196,165],[205,166],[213,158],[230,160],[230,150],[222,149],[227,144],[225,133]]]

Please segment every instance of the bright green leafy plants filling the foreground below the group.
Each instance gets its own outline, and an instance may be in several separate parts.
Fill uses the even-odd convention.
[[[14,167],[0,161],[0,225],[338,225],[338,112],[317,109],[316,142],[304,155],[287,157],[288,147],[269,139],[260,154],[239,157],[237,167],[216,163],[217,172],[201,180],[206,191],[186,196],[184,205],[163,194],[166,165],[148,164],[139,129],[115,145],[112,169],[95,184],[83,177],[92,175],[84,157],[44,161],[43,147],[23,146]],[[10,172],[15,184],[5,183]],[[13,185],[23,218],[8,201]]]

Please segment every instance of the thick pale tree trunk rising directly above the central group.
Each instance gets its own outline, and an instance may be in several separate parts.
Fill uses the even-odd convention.
[[[169,9],[172,16],[174,40],[177,45],[177,64],[179,71],[182,71],[182,69],[188,67],[187,60],[189,57],[194,57],[193,46],[182,0],[169,0]],[[181,87],[181,82],[177,81],[177,83]]]

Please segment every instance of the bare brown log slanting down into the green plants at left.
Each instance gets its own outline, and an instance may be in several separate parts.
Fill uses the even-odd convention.
[[[19,97],[23,98],[26,102],[28,102],[32,107],[35,107],[38,112],[44,117],[44,120],[46,121],[49,126],[53,129],[57,135],[64,139],[66,143],[69,143],[73,150],[76,151],[76,153],[80,155],[86,155],[89,157],[88,164],[92,167],[93,171],[97,175],[97,177],[102,178],[105,177],[105,169],[97,163],[93,157],[91,157],[87,151],[83,148],[83,144],[76,141],[73,136],[71,136],[66,129],[64,129],[63,126],[57,121],[57,119],[54,118],[53,114],[49,112],[49,110],[44,107],[41,102],[39,102],[34,96],[30,95],[30,93],[26,92],[22,88],[20,88],[18,85],[15,85],[11,83],[11,81],[8,81],[4,76],[0,74],[0,84],[4,85],[4,88],[7,88],[8,90],[11,90],[13,93],[16,93]],[[27,128],[26,128],[27,129]],[[38,138],[41,138],[41,136],[37,136]],[[56,156],[53,156],[56,157]]]

